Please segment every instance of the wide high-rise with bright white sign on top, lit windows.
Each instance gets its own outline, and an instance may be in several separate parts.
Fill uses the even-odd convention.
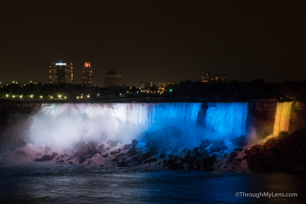
[[[73,83],[73,64],[49,63],[49,83]]]

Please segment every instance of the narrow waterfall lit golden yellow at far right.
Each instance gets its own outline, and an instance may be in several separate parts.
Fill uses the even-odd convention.
[[[292,108],[292,102],[277,102],[274,127],[273,127],[274,136],[277,136],[279,132],[289,131],[291,108]]]

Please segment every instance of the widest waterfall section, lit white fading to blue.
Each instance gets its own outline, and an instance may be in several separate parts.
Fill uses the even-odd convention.
[[[32,118],[30,142],[66,147],[83,140],[136,139],[147,131],[196,126],[202,103],[47,103]]]

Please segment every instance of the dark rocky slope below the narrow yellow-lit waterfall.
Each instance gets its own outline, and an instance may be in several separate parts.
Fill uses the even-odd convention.
[[[280,133],[247,150],[249,168],[268,172],[306,171],[306,133]]]

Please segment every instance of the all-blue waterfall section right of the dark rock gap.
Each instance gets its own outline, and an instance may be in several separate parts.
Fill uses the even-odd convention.
[[[208,103],[206,128],[223,136],[245,134],[248,102]]]

